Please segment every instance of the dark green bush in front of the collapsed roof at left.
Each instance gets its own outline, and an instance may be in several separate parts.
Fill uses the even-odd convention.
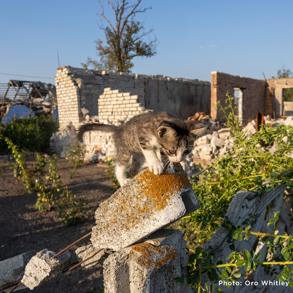
[[[0,122],[0,153],[8,154],[5,137],[8,137],[18,149],[25,151],[50,152],[50,137],[59,128],[59,122],[52,115],[29,118],[13,118],[5,125]]]

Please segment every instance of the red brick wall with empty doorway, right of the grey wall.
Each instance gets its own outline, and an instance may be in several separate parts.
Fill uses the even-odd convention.
[[[243,119],[247,123],[256,117],[259,111],[266,110],[266,83],[262,79],[253,79],[238,75],[212,71],[211,82],[211,117],[219,119],[223,113],[219,112],[217,101],[224,106],[226,92],[234,96],[234,88],[243,88]]]

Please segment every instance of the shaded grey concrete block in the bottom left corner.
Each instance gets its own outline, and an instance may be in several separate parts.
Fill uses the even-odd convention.
[[[25,266],[32,256],[33,253],[28,251],[0,262],[0,291],[5,287],[16,285],[20,282],[24,274]],[[18,290],[25,288],[25,286],[17,287]],[[11,289],[12,287],[4,290],[4,292],[10,292]]]

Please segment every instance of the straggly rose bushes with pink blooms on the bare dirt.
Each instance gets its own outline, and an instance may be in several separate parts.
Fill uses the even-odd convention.
[[[52,208],[55,208],[65,226],[75,225],[76,222],[80,221],[80,215],[86,210],[84,206],[88,202],[84,198],[76,199],[76,195],[72,191],[68,191],[67,186],[62,186],[63,183],[58,175],[56,164],[57,156],[37,153],[36,162],[28,168],[25,153],[18,151],[17,146],[13,145],[7,137],[5,140],[16,158],[16,163],[9,163],[8,166],[13,169],[16,180],[23,181],[26,191],[37,192],[36,209],[50,212]],[[47,173],[45,173],[46,166]]]

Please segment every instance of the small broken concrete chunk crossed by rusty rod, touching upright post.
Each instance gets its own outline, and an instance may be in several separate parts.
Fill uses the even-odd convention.
[[[91,255],[93,255],[96,251],[98,251],[100,248],[94,247],[92,244],[81,246],[76,249],[76,257],[79,262],[89,258]],[[93,265],[96,265],[97,263],[103,262],[110,254],[112,254],[114,251],[109,248],[105,248],[99,253],[97,253],[93,258],[85,261],[81,264],[82,267],[90,268]]]

